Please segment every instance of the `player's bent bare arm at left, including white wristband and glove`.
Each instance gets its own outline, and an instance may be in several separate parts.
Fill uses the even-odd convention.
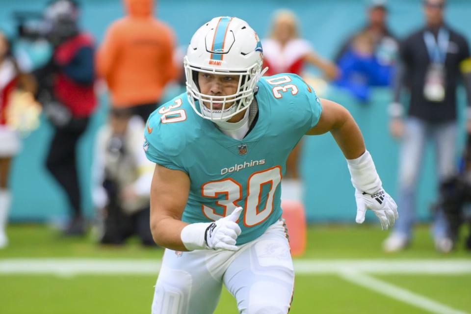
[[[154,241],[176,251],[225,249],[235,251],[242,208],[212,223],[187,224],[182,219],[190,178],[180,170],[156,165],[151,185],[151,231]]]

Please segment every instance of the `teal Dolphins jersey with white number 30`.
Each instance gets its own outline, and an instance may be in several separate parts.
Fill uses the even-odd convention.
[[[258,119],[240,141],[198,116],[186,93],[154,111],[145,131],[147,157],[190,178],[184,222],[214,221],[243,207],[237,244],[280,219],[286,160],[322,110],[314,90],[294,74],[261,78],[256,99]]]

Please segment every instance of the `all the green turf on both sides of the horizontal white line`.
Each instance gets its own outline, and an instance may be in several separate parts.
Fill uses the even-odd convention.
[[[160,259],[160,248],[143,248],[135,239],[125,246],[100,246],[93,233],[85,238],[63,238],[42,225],[11,225],[10,245],[0,260],[10,258]],[[387,236],[376,226],[322,225],[308,230],[308,247],[301,259],[470,259],[460,245],[449,255],[435,252],[426,226],[417,229],[411,247],[385,254]],[[374,275],[446,306],[471,312],[471,274]],[[0,313],[150,313],[156,276],[153,275],[0,275]],[[236,314],[235,299],[224,289],[216,314]],[[428,313],[386,295],[357,286],[340,276],[297,275],[291,312],[310,313]],[[190,313],[191,314],[191,313]]]

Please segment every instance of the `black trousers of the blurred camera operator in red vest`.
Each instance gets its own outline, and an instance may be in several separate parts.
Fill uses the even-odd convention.
[[[80,186],[77,175],[77,142],[86,130],[89,118],[72,119],[64,127],[56,127],[46,166],[64,188],[74,217],[82,215]]]

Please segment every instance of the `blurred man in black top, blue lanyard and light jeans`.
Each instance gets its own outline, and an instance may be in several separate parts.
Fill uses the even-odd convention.
[[[471,108],[470,50],[466,39],[444,21],[445,0],[425,0],[426,25],[407,37],[400,46],[401,65],[390,105],[392,136],[401,138],[399,159],[400,215],[392,234],[384,242],[386,251],[405,248],[412,238],[415,220],[415,192],[422,155],[427,140],[432,139],[441,182],[455,173],[456,85],[462,71],[467,90],[468,112]],[[468,64],[468,66],[466,66]],[[399,103],[406,85],[411,93],[407,115]],[[468,114],[468,131],[471,115]],[[452,240],[442,210],[433,225],[437,250],[449,252]]]

